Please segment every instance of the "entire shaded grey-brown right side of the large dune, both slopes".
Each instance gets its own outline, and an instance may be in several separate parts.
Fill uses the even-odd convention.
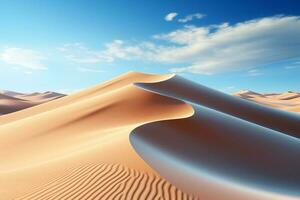
[[[207,94],[208,88],[200,85],[198,91],[188,90],[190,84],[176,76],[154,84],[135,84],[194,104],[195,110],[185,119],[134,129],[130,141],[137,153],[167,180],[204,199],[298,199],[300,140],[291,136],[299,137],[299,116],[213,90]],[[203,97],[208,100],[197,99],[192,92],[207,94]],[[213,97],[219,99],[210,99]],[[234,106],[239,110],[232,110]],[[266,113],[253,118],[255,112]],[[266,116],[274,121],[281,118],[281,124],[269,123]]]

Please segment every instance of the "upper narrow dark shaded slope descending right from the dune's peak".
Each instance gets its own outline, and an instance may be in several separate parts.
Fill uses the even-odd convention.
[[[235,116],[258,125],[300,138],[298,114],[272,109],[255,102],[234,97],[182,77],[175,76],[161,83],[136,84],[152,92]]]

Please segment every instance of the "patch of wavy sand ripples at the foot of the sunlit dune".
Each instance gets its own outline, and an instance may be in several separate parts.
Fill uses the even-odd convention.
[[[168,181],[119,164],[89,164],[17,200],[192,200]]]

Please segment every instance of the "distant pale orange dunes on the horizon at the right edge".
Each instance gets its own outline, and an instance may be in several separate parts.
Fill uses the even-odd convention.
[[[241,91],[234,95],[272,108],[300,112],[300,94],[297,92],[259,94],[252,91]]]

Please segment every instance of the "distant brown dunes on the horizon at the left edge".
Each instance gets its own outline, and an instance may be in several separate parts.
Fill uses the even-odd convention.
[[[22,94],[13,91],[0,91],[0,115],[23,110],[63,96],[65,95],[55,92]]]

